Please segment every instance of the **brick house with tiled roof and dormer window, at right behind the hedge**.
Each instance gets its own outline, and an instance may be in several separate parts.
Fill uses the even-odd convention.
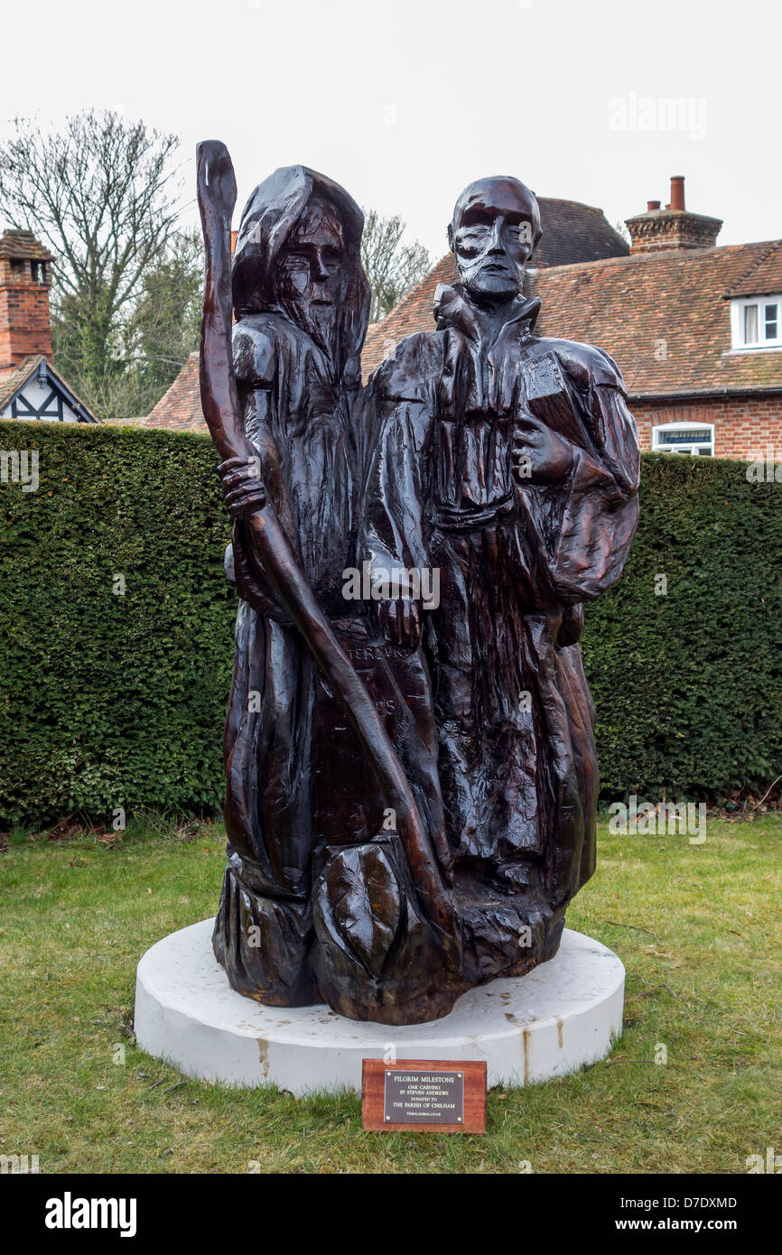
[[[718,247],[720,220],[685,208],[680,176],[665,208],[650,201],[626,226],[629,252],[554,262],[544,235],[527,282],[542,300],[537,330],[611,354],[643,449],[782,461],[782,240]],[[367,374],[433,329],[437,284],[456,279],[447,254],[370,326]]]

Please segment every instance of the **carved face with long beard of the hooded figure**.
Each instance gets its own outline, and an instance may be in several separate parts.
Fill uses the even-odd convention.
[[[345,240],[334,206],[313,198],[280,254],[280,305],[334,361],[344,300]]]

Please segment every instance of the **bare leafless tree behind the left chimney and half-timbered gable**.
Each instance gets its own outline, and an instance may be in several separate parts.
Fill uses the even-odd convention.
[[[176,236],[177,143],[143,122],[88,110],[48,134],[21,120],[0,144],[0,218],[54,254],[55,329],[94,405],[126,369],[143,277]]]

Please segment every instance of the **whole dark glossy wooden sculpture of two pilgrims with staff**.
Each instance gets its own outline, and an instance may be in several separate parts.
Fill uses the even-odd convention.
[[[517,179],[462,193],[461,284],[364,390],[358,206],[276,171],[231,274],[235,198],[201,144],[202,403],[240,595],[215,954],[260,1001],[436,1019],[550,959],[594,870],[580,605],[633,540],[635,423],[606,354],[535,335]]]

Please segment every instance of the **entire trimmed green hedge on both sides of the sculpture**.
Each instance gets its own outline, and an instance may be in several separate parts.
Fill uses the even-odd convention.
[[[236,602],[211,441],[0,422],[24,448],[38,491],[0,484],[0,823],[220,807]],[[586,607],[604,796],[782,772],[781,561],[782,484],[644,456],[628,569]]]

